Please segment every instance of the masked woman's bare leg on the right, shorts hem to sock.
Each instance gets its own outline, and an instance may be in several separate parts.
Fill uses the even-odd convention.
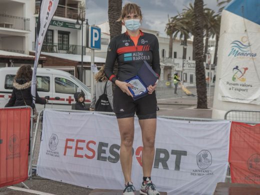
[[[154,158],[154,141],[156,132],[156,118],[139,120],[142,134],[142,172],[143,176],[151,175]]]

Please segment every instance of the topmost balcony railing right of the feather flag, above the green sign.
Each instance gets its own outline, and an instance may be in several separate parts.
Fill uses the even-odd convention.
[[[36,14],[39,13],[39,8],[40,8],[39,5],[40,5],[39,1],[36,1],[35,2],[35,13]],[[70,19],[76,19],[79,12],[80,11],[78,8],[64,6],[64,5],[58,5],[54,15],[59,16],[59,17],[70,18]]]

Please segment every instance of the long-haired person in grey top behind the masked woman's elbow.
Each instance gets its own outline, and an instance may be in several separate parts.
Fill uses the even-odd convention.
[[[107,82],[107,83],[106,83]],[[106,83],[106,86],[105,86]],[[98,97],[103,94],[105,87],[105,94],[107,95],[108,101],[111,105],[111,108],[113,109],[113,91],[112,91],[112,82],[110,80],[107,80],[107,78],[104,75],[104,65],[99,69],[99,71],[95,74],[95,84],[94,84],[94,90],[92,94],[92,99],[90,103],[90,111],[95,110],[95,103],[98,99]]]

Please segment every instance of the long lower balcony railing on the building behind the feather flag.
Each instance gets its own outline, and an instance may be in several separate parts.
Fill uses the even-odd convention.
[[[35,42],[32,42],[32,49],[35,50]],[[85,55],[85,46],[83,46],[83,55]],[[81,45],[76,44],[59,44],[43,43],[41,51],[50,53],[68,53],[81,55]]]

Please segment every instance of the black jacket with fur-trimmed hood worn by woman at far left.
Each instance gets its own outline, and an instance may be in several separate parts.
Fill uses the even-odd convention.
[[[28,105],[34,108],[34,104],[32,104],[32,95],[30,92],[31,88],[31,81],[26,82],[24,79],[15,79],[13,81],[13,89],[11,93],[11,97],[5,107],[12,107],[12,106],[23,106]],[[45,99],[39,97],[36,91],[36,99],[35,103],[45,104],[47,103]],[[24,102],[25,101],[25,102]]]

